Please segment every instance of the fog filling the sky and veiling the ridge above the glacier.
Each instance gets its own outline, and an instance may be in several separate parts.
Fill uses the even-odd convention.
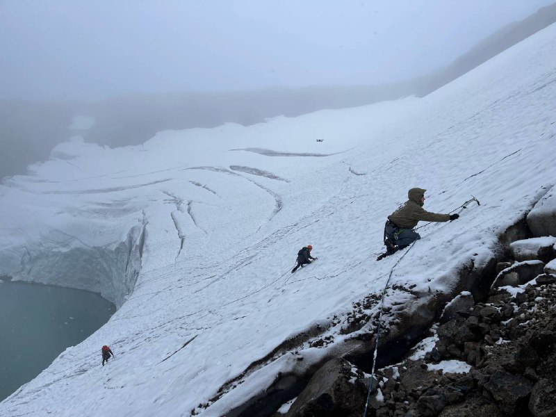
[[[4,0],[0,177],[74,133],[122,146],[423,96],[555,22],[550,3]]]

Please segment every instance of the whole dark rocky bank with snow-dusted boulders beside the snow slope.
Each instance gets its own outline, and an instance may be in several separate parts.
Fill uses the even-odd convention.
[[[542,210],[536,206],[537,213],[527,218],[528,224],[537,224],[537,236],[548,234],[551,212],[547,207],[554,205],[550,198],[543,197],[537,204]],[[531,231],[523,226],[518,230],[512,235],[518,241],[503,236],[504,252],[510,257],[487,268],[496,273],[496,278],[490,278],[494,283],[489,297],[475,302],[470,292],[461,292],[430,327],[430,337],[423,341],[428,341],[426,352],[408,354],[395,366],[377,371],[369,416],[556,416],[556,238],[523,239]],[[426,318],[421,315],[420,326],[441,310],[439,297],[416,295],[414,301],[422,305],[416,312],[428,312]],[[403,316],[401,311],[386,313]],[[361,332],[365,327],[369,326],[357,329]],[[383,343],[400,333],[393,330]],[[348,374],[357,382],[346,382]],[[368,389],[369,384],[370,375],[361,376],[349,362],[330,361],[313,376],[286,416],[361,415],[361,386]],[[342,404],[344,397],[349,400]]]

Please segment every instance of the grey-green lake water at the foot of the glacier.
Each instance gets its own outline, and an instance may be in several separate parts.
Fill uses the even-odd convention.
[[[0,401],[114,312],[113,304],[88,291],[0,281]]]

